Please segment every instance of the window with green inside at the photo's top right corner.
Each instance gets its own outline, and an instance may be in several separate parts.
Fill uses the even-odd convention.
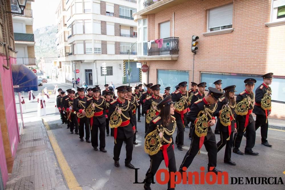
[[[273,0],[271,22],[285,21],[285,0]]]

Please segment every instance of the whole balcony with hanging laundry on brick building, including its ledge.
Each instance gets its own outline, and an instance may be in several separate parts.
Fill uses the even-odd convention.
[[[147,56],[137,56],[138,60],[178,60],[179,38],[163,38],[161,47],[156,42],[152,42],[150,49],[147,50]]]

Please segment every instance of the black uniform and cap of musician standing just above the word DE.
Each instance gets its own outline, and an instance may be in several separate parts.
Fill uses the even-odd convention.
[[[224,88],[225,92],[236,92],[235,85],[227,86]],[[217,143],[218,152],[226,145],[224,162],[235,166],[236,163],[231,161],[231,149],[233,147],[233,134],[237,127],[235,122],[235,106],[236,103],[233,100],[228,100],[226,97],[222,97],[218,102],[218,107],[214,113],[217,116],[216,129],[220,131],[220,141]],[[221,111],[221,113],[220,113]],[[221,119],[219,118],[221,117]]]

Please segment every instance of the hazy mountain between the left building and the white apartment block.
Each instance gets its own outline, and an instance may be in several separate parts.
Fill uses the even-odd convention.
[[[57,57],[56,50],[57,26],[46,26],[34,30],[35,55],[37,58]]]

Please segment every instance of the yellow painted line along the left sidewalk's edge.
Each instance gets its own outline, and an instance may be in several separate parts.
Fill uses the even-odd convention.
[[[69,187],[69,189],[74,190],[82,190],[81,187],[79,187],[79,183],[77,182],[72,170],[70,169],[68,163],[66,162],[66,159],[56,141],[56,138],[52,131],[50,130],[50,127],[48,126],[47,122],[44,121],[44,126],[46,126],[48,138],[50,139],[50,144],[52,145],[52,148],[54,150],[54,153],[56,155],[56,158],[58,160],[59,166],[63,172],[64,178],[66,180],[66,183]]]

